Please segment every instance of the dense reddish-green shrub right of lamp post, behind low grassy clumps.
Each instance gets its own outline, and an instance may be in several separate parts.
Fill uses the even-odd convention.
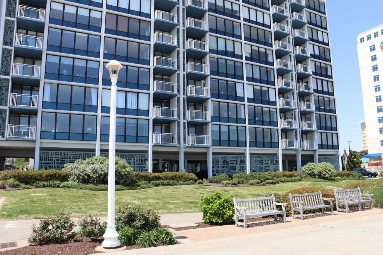
[[[133,227],[134,229],[151,230],[160,226],[160,216],[153,209],[133,204],[118,207],[116,212],[116,229]]]

